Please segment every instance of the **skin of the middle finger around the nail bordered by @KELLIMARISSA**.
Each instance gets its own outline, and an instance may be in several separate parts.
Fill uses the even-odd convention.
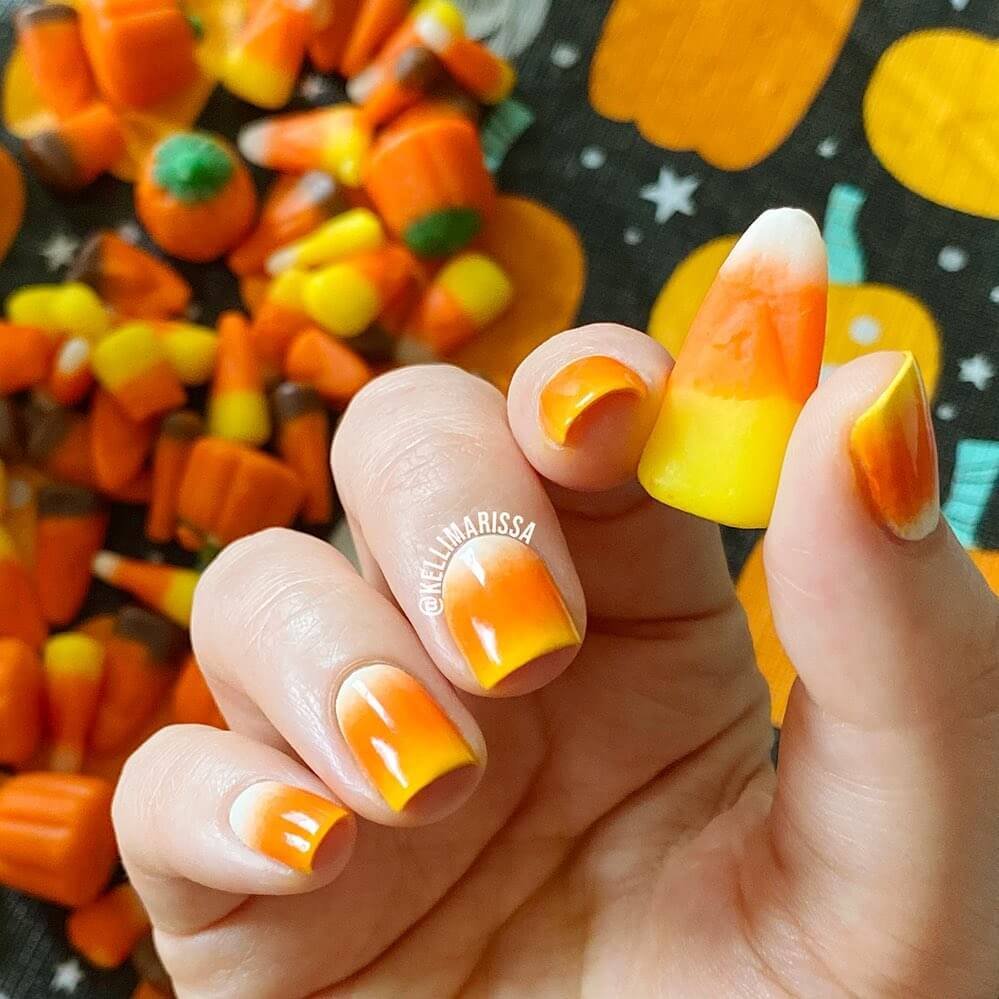
[[[452,683],[480,696],[511,696],[544,685],[569,665],[578,647],[545,655],[484,690],[445,616],[421,608],[421,571],[443,530],[480,512],[508,513],[536,525],[530,548],[545,563],[576,631],[585,632],[585,601],[558,517],[510,433],[495,388],[446,365],[381,376],[354,397],[341,420],[333,472],[344,508],[360,525],[399,606]]]

